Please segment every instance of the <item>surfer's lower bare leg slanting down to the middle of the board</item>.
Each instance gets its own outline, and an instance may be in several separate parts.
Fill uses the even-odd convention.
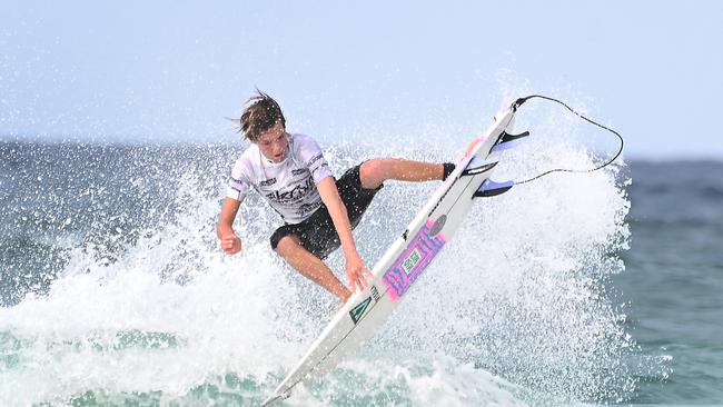
[[[351,291],[336,278],[329,267],[301,246],[297,236],[290,235],[283,237],[276,246],[276,252],[284,257],[301,276],[339,297],[341,302],[346,302],[351,296]]]

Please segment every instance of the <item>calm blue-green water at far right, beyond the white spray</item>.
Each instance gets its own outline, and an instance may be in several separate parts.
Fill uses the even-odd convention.
[[[630,334],[665,360],[644,374],[641,404],[723,403],[723,162],[633,162],[626,272]]]

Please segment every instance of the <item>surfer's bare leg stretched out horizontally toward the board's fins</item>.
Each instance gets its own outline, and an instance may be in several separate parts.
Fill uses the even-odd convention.
[[[361,187],[368,189],[379,188],[387,179],[400,181],[430,181],[442,180],[444,166],[442,163],[410,161],[398,158],[375,158],[361,165],[359,178]]]

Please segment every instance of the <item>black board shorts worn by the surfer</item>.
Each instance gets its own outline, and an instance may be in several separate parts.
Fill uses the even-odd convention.
[[[351,229],[359,225],[359,220],[372,204],[374,196],[384,187],[382,185],[377,189],[363,188],[359,178],[360,167],[361,165],[349,168],[341,178],[336,180],[336,188],[346,206]],[[286,224],[276,229],[270,239],[271,248],[276,250],[281,238],[289,235],[298,236],[301,246],[319,259],[325,259],[341,245],[329,211],[324,205],[308,219],[299,224]]]

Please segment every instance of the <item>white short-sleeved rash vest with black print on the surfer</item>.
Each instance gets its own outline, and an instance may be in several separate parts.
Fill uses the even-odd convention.
[[[289,151],[281,162],[264,157],[251,145],[231,170],[226,197],[242,201],[254,187],[287,224],[298,224],[321,207],[316,185],[331,177],[316,141],[305,135],[289,135]]]

